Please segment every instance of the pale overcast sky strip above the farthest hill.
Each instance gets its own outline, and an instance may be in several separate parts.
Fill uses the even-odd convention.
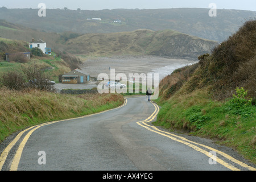
[[[71,10],[209,8],[210,3],[215,3],[217,9],[256,11],[256,0],[1,0],[0,7],[37,9],[39,3],[45,3],[47,9],[68,7]]]

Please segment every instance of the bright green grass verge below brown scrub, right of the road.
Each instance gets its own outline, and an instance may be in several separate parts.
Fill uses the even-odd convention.
[[[174,94],[162,106],[156,126],[216,140],[256,164],[256,106],[234,107],[233,100],[214,101],[207,89]]]

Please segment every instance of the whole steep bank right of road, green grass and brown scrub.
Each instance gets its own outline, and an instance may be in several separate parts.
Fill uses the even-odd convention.
[[[231,99],[240,86],[255,102],[255,40],[252,20],[211,55],[200,57],[199,64],[164,78],[154,124],[215,139],[256,164],[256,106],[238,107]]]

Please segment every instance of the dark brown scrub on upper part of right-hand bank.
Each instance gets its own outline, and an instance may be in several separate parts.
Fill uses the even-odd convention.
[[[238,86],[256,99],[256,20],[246,22],[211,55],[199,60],[200,67],[187,85],[189,91],[210,86],[215,99],[225,100]]]

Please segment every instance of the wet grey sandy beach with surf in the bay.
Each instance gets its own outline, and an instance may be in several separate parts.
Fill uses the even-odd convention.
[[[156,56],[116,56],[87,59],[81,69],[92,77],[98,77],[100,73],[110,76],[110,69],[115,69],[115,75],[125,73],[127,77],[129,73],[158,73],[159,79],[162,80],[175,69],[193,63],[196,61]]]

